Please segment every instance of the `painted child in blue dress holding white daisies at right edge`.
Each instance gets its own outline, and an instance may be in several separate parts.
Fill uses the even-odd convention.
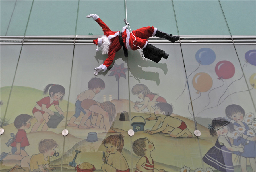
[[[256,169],[256,136],[255,136],[255,126],[250,125],[251,128],[248,126],[248,124],[251,124],[253,121],[253,114],[250,114],[251,116],[245,117],[245,111],[244,109],[239,105],[228,105],[226,107],[226,116],[232,118],[234,120],[234,127],[236,129],[235,133],[237,135],[233,134],[234,142],[233,144],[238,146],[242,144],[244,146],[244,152],[233,152],[234,154],[237,154],[241,156],[241,168],[243,172],[246,172],[246,160],[249,158],[249,162],[251,164],[252,169]],[[245,120],[244,120],[245,119]],[[245,121],[245,122],[243,122]]]

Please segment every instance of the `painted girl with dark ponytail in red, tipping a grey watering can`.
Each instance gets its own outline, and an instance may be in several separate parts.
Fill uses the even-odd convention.
[[[47,131],[48,126],[46,123],[49,121],[48,117],[54,115],[54,112],[48,109],[51,105],[54,105],[59,114],[63,115],[63,111],[59,107],[59,100],[61,101],[63,99],[63,96],[65,95],[65,88],[61,85],[48,84],[44,88],[44,94],[47,94],[48,90],[50,96],[44,97],[36,102],[37,104],[32,111],[37,122],[33,125],[31,132],[37,131],[38,127],[44,120],[46,122],[43,125],[42,131]]]

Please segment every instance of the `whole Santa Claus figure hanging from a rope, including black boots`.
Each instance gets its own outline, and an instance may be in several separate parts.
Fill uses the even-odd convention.
[[[86,17],[92,17],[102,28],[104,36],[93,40],[93,43],[97,45],[97,50],[98,46],[100,46],[102,54],[108,54],[108,58],[104,61],[104,63],[94,69],[96,70],[94,75],[98,75],[100,71],[105,72],[107,70],[107,68],[113,63],[115,53],[119,51],[122,46],[124,47],[124,51],[142,49],[145,58],[158,63],[161,58],[167,59],[169,54],[149,44],[147,39],[149,37],[156,36],[159,38],[165,38],[172,43],[179,40],[179,36],[172,36],[172,34],[169,35],[153,26],[133,30],[132,34],[130,34],[126,25],[123,27],[121,32],[113,32],[97,14],[89,14]]]

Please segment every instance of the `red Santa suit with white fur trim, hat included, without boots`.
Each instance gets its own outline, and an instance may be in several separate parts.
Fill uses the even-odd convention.
[[[100,25],[103,30],[104,35],[108,37],[111,41],[111,45],[109,47],[108,58],[104,61],[102,65],[99,67],[103,69],[103,72],[107,70],[107,68],[113,63],[115,58],[115,53],[121,49],[121,45],[119,43],[119,31],[113,32],[110,28],[99,18],[97,14],[94,14],[92,18]],[[121,34],[123,38],[124,46],[127,50],[137,50],[139,48],[143,49],[147,45],[147,39],[156,34],[157,28],[155,27],[142,27],[137,30],[133,30],[132,34],[130,34],[127,26],[123,27]],[[102,39],[98,38],[93,40],[93,43],[101,46]]]

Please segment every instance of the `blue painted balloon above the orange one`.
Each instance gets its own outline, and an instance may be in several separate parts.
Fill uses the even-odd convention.
[[[196,57],[197,62],[202,64],[202,65],[210,65],[216,59],[215,52],[210,48],[201,48],[201,49],[199,49],[196,52],[195,57]]]

